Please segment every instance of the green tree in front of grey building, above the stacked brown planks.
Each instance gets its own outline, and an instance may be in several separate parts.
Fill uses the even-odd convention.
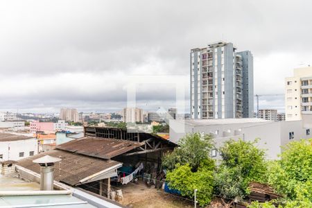
[[[265,151],[255,141],[230,139],[220,148],[222,161],[214,175],[216,193],[225,198],[243,198],[248,184],[262,182],[266,173]]]

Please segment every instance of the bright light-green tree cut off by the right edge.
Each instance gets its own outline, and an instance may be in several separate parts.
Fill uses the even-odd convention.
[[[268,183],[290,200],[312,203],[312,140],[292,141],[268,165]]]

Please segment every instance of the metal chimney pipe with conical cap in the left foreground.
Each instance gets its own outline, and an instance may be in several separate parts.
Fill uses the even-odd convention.
[[[53,191],[54,163],[60,162],[61,160],[62,159],[58,157],[51,157],[49,155],[33,160],[34,163],[37,163],[41,166],[40,168],[41,191]]]

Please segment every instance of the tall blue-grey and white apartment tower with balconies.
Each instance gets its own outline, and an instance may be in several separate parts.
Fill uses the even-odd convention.
[[[230,42],[191,49],[192,119],[254,116],[253,57]]]

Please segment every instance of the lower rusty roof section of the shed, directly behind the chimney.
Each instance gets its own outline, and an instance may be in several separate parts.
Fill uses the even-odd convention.
[[[71,186],[80,184],[80,180],[94,175],[95,173],[99,173],[107,168],[121,164],[120,162],[110,159],[87,157],[85,155],[68,153],[62,150],[49,150],[46,153],[40,153],[35,156],[21,159],[19,160],[18,165],[40,174],[40,165],[33,163],[33,160],[45,155],[60,157],[62,159],[60,162],[55,162],[54,180],[64,182]]]

